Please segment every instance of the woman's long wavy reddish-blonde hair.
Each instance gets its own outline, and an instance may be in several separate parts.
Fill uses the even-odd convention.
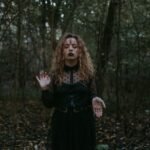
[[[51,72],[55,77],[55,82],[61,84],[63,81],[65,60],[63,57],[63,45],[67,38],[75,38],[79,48],[79,75],[81,80],[88,80],[94,75],[94,66],[90,57],[90,54],[85,46],[84,41],[75,34],[65,34],[58,43],[56,50],[53,54]]]

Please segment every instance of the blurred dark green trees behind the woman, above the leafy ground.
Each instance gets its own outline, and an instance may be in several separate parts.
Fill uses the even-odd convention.
[[[49,71],[66,32],[84,39],[107,114],[123,117],[125,132],[129,117],[149,116],[150,0],[1,0],[1,104],[37,102],[35,75]]]

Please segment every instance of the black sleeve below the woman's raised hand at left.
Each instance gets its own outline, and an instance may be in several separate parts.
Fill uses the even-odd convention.
[[[44,104],[45,107],[51,108],[54,106],[54,78],[53,76],[51,77],[51,83],[49,85],[49,88],[47,90],[42,90],[42,96],[41,100]]]

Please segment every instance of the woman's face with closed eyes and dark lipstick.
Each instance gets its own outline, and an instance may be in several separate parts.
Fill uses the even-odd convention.
[[[63,54],[65,60],[77,60],[79,57],[79,48],[77,40],[73,37],[67,38],[63,45]]]

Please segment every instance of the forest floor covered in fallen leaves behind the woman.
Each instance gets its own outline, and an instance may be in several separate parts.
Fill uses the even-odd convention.
[[[52,110],[39,102],[0,102],[0,150],[45,150]],[[97,150],[150,150],[150,116],[96,121]]]

